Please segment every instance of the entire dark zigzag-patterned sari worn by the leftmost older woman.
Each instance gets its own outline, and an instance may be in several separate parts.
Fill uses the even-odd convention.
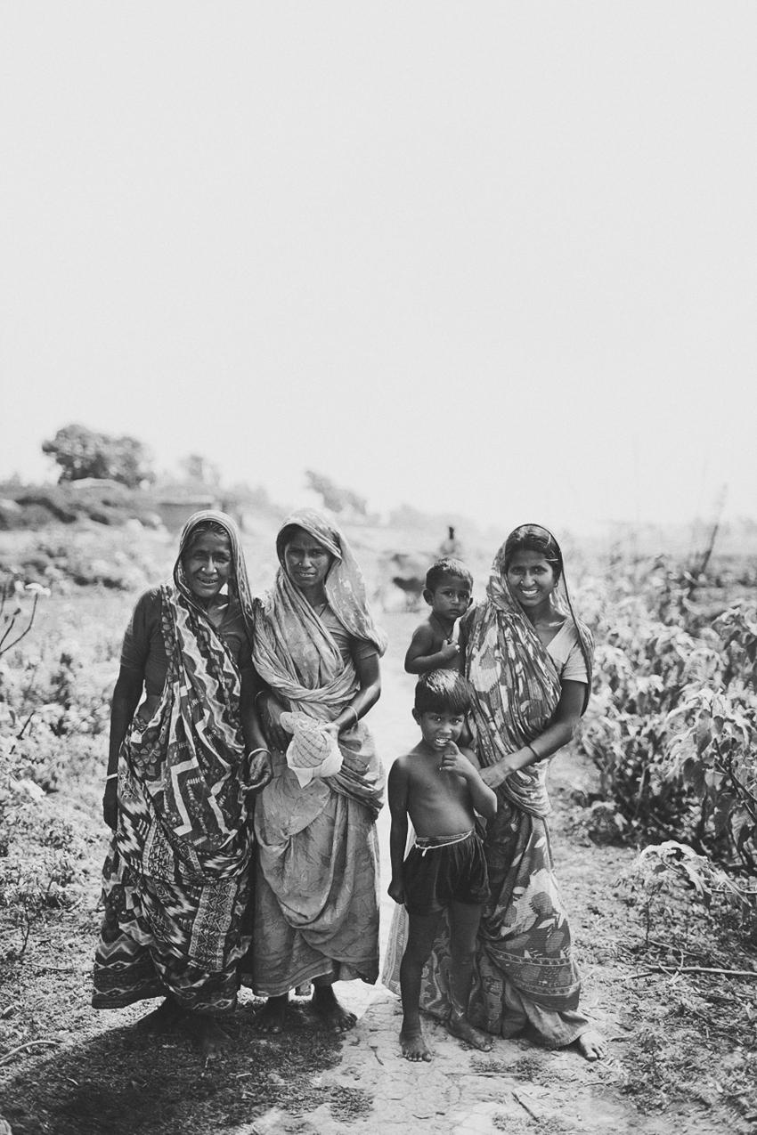
[[[241,679],[184,575],[182,554],[203,521],[228,533],[235,588],[251,611],[235,527],[222,513],[195,513],[182,532],[174,582],[161,588],[168,675],[160,704],[150,721],[135,716],[119,754],[98,1009],[168,993],[191,1011],[222,1014],[236,1003],[250,891]]]

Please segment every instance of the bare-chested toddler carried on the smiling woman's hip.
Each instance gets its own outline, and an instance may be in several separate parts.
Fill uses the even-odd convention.
[[[473,577],[460,560],[437,560],[426,573],[423,598],[431,608],[414,631],[405,655],[409,674],[457,670],[455,623],[471,605]]]

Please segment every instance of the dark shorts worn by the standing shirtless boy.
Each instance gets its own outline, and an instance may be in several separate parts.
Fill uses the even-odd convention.
[[[435,846],[421,840],[403,865],[405,908],[411,915],[431,915],[453,902],[481,906],[489,897],[483,844],[474,831],[454,842]]]

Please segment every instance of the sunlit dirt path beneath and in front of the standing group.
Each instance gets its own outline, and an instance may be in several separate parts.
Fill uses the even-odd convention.
[[[414,740],[412,680],[401,666],[414,619],[397,615],[387,623],[393,647],[372,725],[388,765]],[[96,818],[99,788],[93,782],[78,800],[69,801],[79,822],[98,833],[87,866],[87,900],[52,920],[30,947],[24,964],[3,975],[0,1111],[15,1135],[539,1130],[741,1135],[754,1130],[718,1102],[717,1067],[712,1085],[692,1085],[690,1103],[671,1102],[657,1093],[655,1103],[663,1108],[658,1113],[645,1115],[637,1107],[638,1101],[648,1104],[650,1096],[640,1092],[634,1052],[646,1023],[658,1014],[661,999],[673,994],[662,980],[632,980],[637,967],[631,950],[641,932],[615,886],[632,852],[594,847],[571,834],[575,812],[571,790],[586,785],[590,775],[575,755],[558,758],[552,782],[553,831],[584,980],[582,1003],[611,1041],[611,1056],[602,1063],[589,1065],[574,1051],[546,1052],[522,1041],[499,1040],[491,1053],[479,1053],[429,1022],[435,1059],[411,1065],[399,1057],[397,1000],[382,987],[354,983],[340,995],[360,1020],[343,1041],[319,1033],[304,1011],[295,1014],[293,1028],[280,1039],[261,1039],[251,1025],[254,1002],[247,997],[236,1015],[230,1052],[207,1067],[182,1036],[157,1042],[136,1034],[132,1026],[143,1007],[95,1014],[89,1007],[89,972],[104,840]],[[386,874],[386,810],[379,831]],[[382,883],[385,935],[394,906],[386,897],[387,882]],[[30,1042],[30,1048],[14,1054],[14,1049]],[[668,1056],[662,1052],[661,1059]]]

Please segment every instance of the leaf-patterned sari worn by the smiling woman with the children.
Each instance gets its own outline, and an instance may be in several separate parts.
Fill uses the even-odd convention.
[[[562,556],[561,556],[562,560]],[[591,688],[594,642],[577,617],[564,573],[555,604],[575,628]],[[461,627],[465,676],[472,689],[471,730],[482,767],[539,737],[561,697],[561,678],[547,647],[513,597],[505,548],[491,568],[486,599]],[[555,878],[547,817],[547,766],[540,760],[507,776],[495,791],[497,813],[487,822],[483,848],[490,894],[483,906],[468,1008],[473,1025],[499,1036],[529,1033],[548,1048],[563,1048],[589,1029],[579,1010],[580,978],[567,916]],[[404,952],[404,911],[385,964],[385,984],[398,992]],[[420,1004],[449,1014],[449,926],[445,919],[427,962]]]

